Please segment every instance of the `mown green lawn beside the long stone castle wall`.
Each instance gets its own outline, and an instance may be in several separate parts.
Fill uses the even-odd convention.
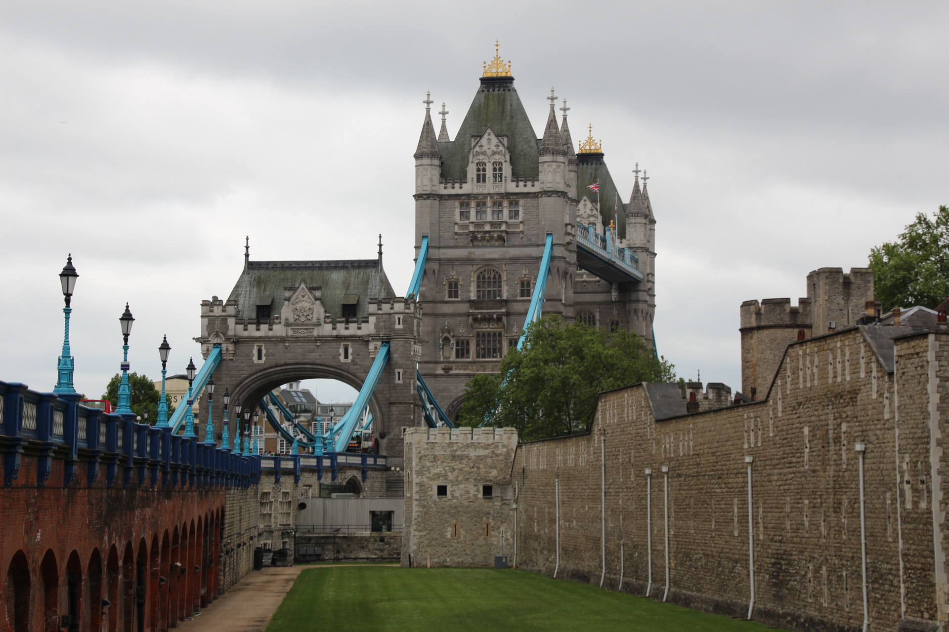
[[[267,632],[768,629],[525,570],[323,567],[306,569]]]

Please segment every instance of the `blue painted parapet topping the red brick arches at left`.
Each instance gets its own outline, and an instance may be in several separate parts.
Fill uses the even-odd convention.
[[[233,454],[135,415],[79,403],[78,393],[43,393],[0,382],[0,453],[7,487],[245,488],[260,479],[260,459]],[[24,457],[33,465],[27,467]],[[63,461],[59,466],[54,460]]]

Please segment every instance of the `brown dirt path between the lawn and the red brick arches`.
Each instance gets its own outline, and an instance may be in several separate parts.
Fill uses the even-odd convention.
[[[251,570],[214,604],[206,607],[194,621],[178,623],[177,629],[181,632],[263,632],[301,570],[333,566],[335,565]]]

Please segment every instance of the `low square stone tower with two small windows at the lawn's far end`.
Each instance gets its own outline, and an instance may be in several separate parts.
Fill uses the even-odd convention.
[[[513,428],[406,431],[402,566],[487,567],[510,554],[516,445]]]

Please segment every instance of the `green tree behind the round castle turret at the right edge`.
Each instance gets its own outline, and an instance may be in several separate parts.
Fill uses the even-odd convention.
[[[884,311],[922,305],[935,309],[949,298],[949,207],[932,219],[924,213],[899,240],[870,249],[876,299]]]

